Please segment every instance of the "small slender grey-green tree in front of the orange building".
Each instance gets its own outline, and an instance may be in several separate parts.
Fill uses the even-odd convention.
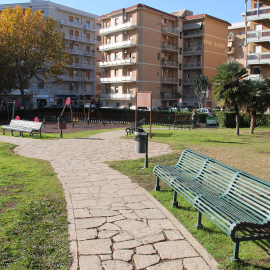
[[[212,83],[208,80],[207,76],[198,75],[193,81],[193,89],[195,95],[199,100],[200,107],[203,106],[207,92],[209,93],[212,87]]]

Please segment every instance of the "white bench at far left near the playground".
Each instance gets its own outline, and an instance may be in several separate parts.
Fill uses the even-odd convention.
[[[10,130],[11,135],[13,136],[13,131],[19,131],[20,135],[23,137],[23,133],[29,133],[32,135],[34,133],[39,133],[41,138],[41,127],[43,122],[27,121],[27,120],[11,120],[9,125],[3,125],[3,135],[5,135],[5,130]]]

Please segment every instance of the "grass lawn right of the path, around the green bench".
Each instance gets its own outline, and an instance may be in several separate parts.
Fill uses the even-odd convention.
[[[147,129],[146,129],[147,130]],[[168,130],[153,129],[152,141],[167,143],[174,150],[171,154],[149,158],[149,168],[142,170],[142,159],[110,162],[109,164],[128,175],[134,182],[147,189],[192,233],[192,235],[217,260],[222,269],[270,269],[270,241],[250,241],[240,244],[239,256],[242,263],[230,262],[233,253],[233,242],[208,219],[203,218],[203,230],[196,230],[194,224],[197,213],[192,206],[179,198],[179,208],[172,208],[173,193],[162,183],[161,191],[153,190],[155,177],[152,173],[156,164],[174,165],[180,154],[190,148],[207,156],[250,174],[270,180],[270,129],[256,128],[250,135],[249,129],[240,129],[240,136],[235,135],[235,129],[198,129],[198,130]],[[131,136],[126,138],[133,139]]]

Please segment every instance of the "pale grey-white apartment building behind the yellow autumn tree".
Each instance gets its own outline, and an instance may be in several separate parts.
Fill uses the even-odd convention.
[[[67,97],[71,97],[74,101],[81,101],[99,96],[101,87],[96,84],[96,73],[99,72],[99,67],[95,65],[95,57],[101,59],[101,54],[96,49],[100,42],[97,36],[101,26],[98,16],[43,0],[0,5],[0,10],[17,5],[23,8],[31,7],[33,11],[42,10],[46,16],[50,15],[58,19],[60,27],[65,31],[70,53],[69,64],[62,75],[63,82],[51,86],[33,81],[31,87],[27,89],[27,103],[34,102],[35,106],[46,104],[63,106]],[[5,99],[20,101],[20,91],[13,90]]]

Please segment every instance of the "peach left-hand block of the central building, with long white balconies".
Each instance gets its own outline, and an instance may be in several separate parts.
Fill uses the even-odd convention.
[[[134,106],[137,91],[151,91],[153,106],[179,104],[183,20],[143,4],[99,19],[103,106]]]

